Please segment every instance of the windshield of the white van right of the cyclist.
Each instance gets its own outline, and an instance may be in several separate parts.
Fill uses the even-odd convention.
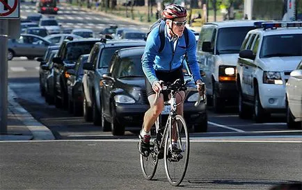
[[[244,37],[253,29],[255,29],[253,26],[221,28],[218,30],[216,52],[218,54],[239,53]]]

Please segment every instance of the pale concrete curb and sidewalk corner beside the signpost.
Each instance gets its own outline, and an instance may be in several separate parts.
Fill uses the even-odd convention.
[[[17,103],[17,101],[15,101],[16,98],[17,94],[15,94],[13,89],[10,89],[8,85],[8,102],[13,105],[13,107],[11,107],[11,110],[17,116],[17,119],[22,121],[24,123],[24,126],[26,126],[26,128],[31,131],[33,140],[56,139],[49,128],[35,120],[29,112],[27,112],[21,105],[19,105],[19,103]]]

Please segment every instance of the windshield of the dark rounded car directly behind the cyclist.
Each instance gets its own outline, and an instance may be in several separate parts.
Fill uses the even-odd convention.
[[[143,69],[141,67],[141,55],[122,58],[117,69],[117,78],[144,76]]]

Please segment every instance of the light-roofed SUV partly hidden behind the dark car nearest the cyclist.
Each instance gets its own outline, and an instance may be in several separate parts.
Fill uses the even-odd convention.
[[[100,107],[100,80],[107,69],[114,51],[126,47],[145,46],[145,41],[134,40],[109,40],[102,39],[95,43],[88,62],[84,64],[83,89],[84,89],[84,119],[93,121],[97,126],[102,125],[102,107]],[[103,125],[104,131],[109,129]]]

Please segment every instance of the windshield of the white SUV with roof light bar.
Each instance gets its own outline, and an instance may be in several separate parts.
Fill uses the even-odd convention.
[[[301,44],[302,34],[264,36],[260,58],[301,56]]]

